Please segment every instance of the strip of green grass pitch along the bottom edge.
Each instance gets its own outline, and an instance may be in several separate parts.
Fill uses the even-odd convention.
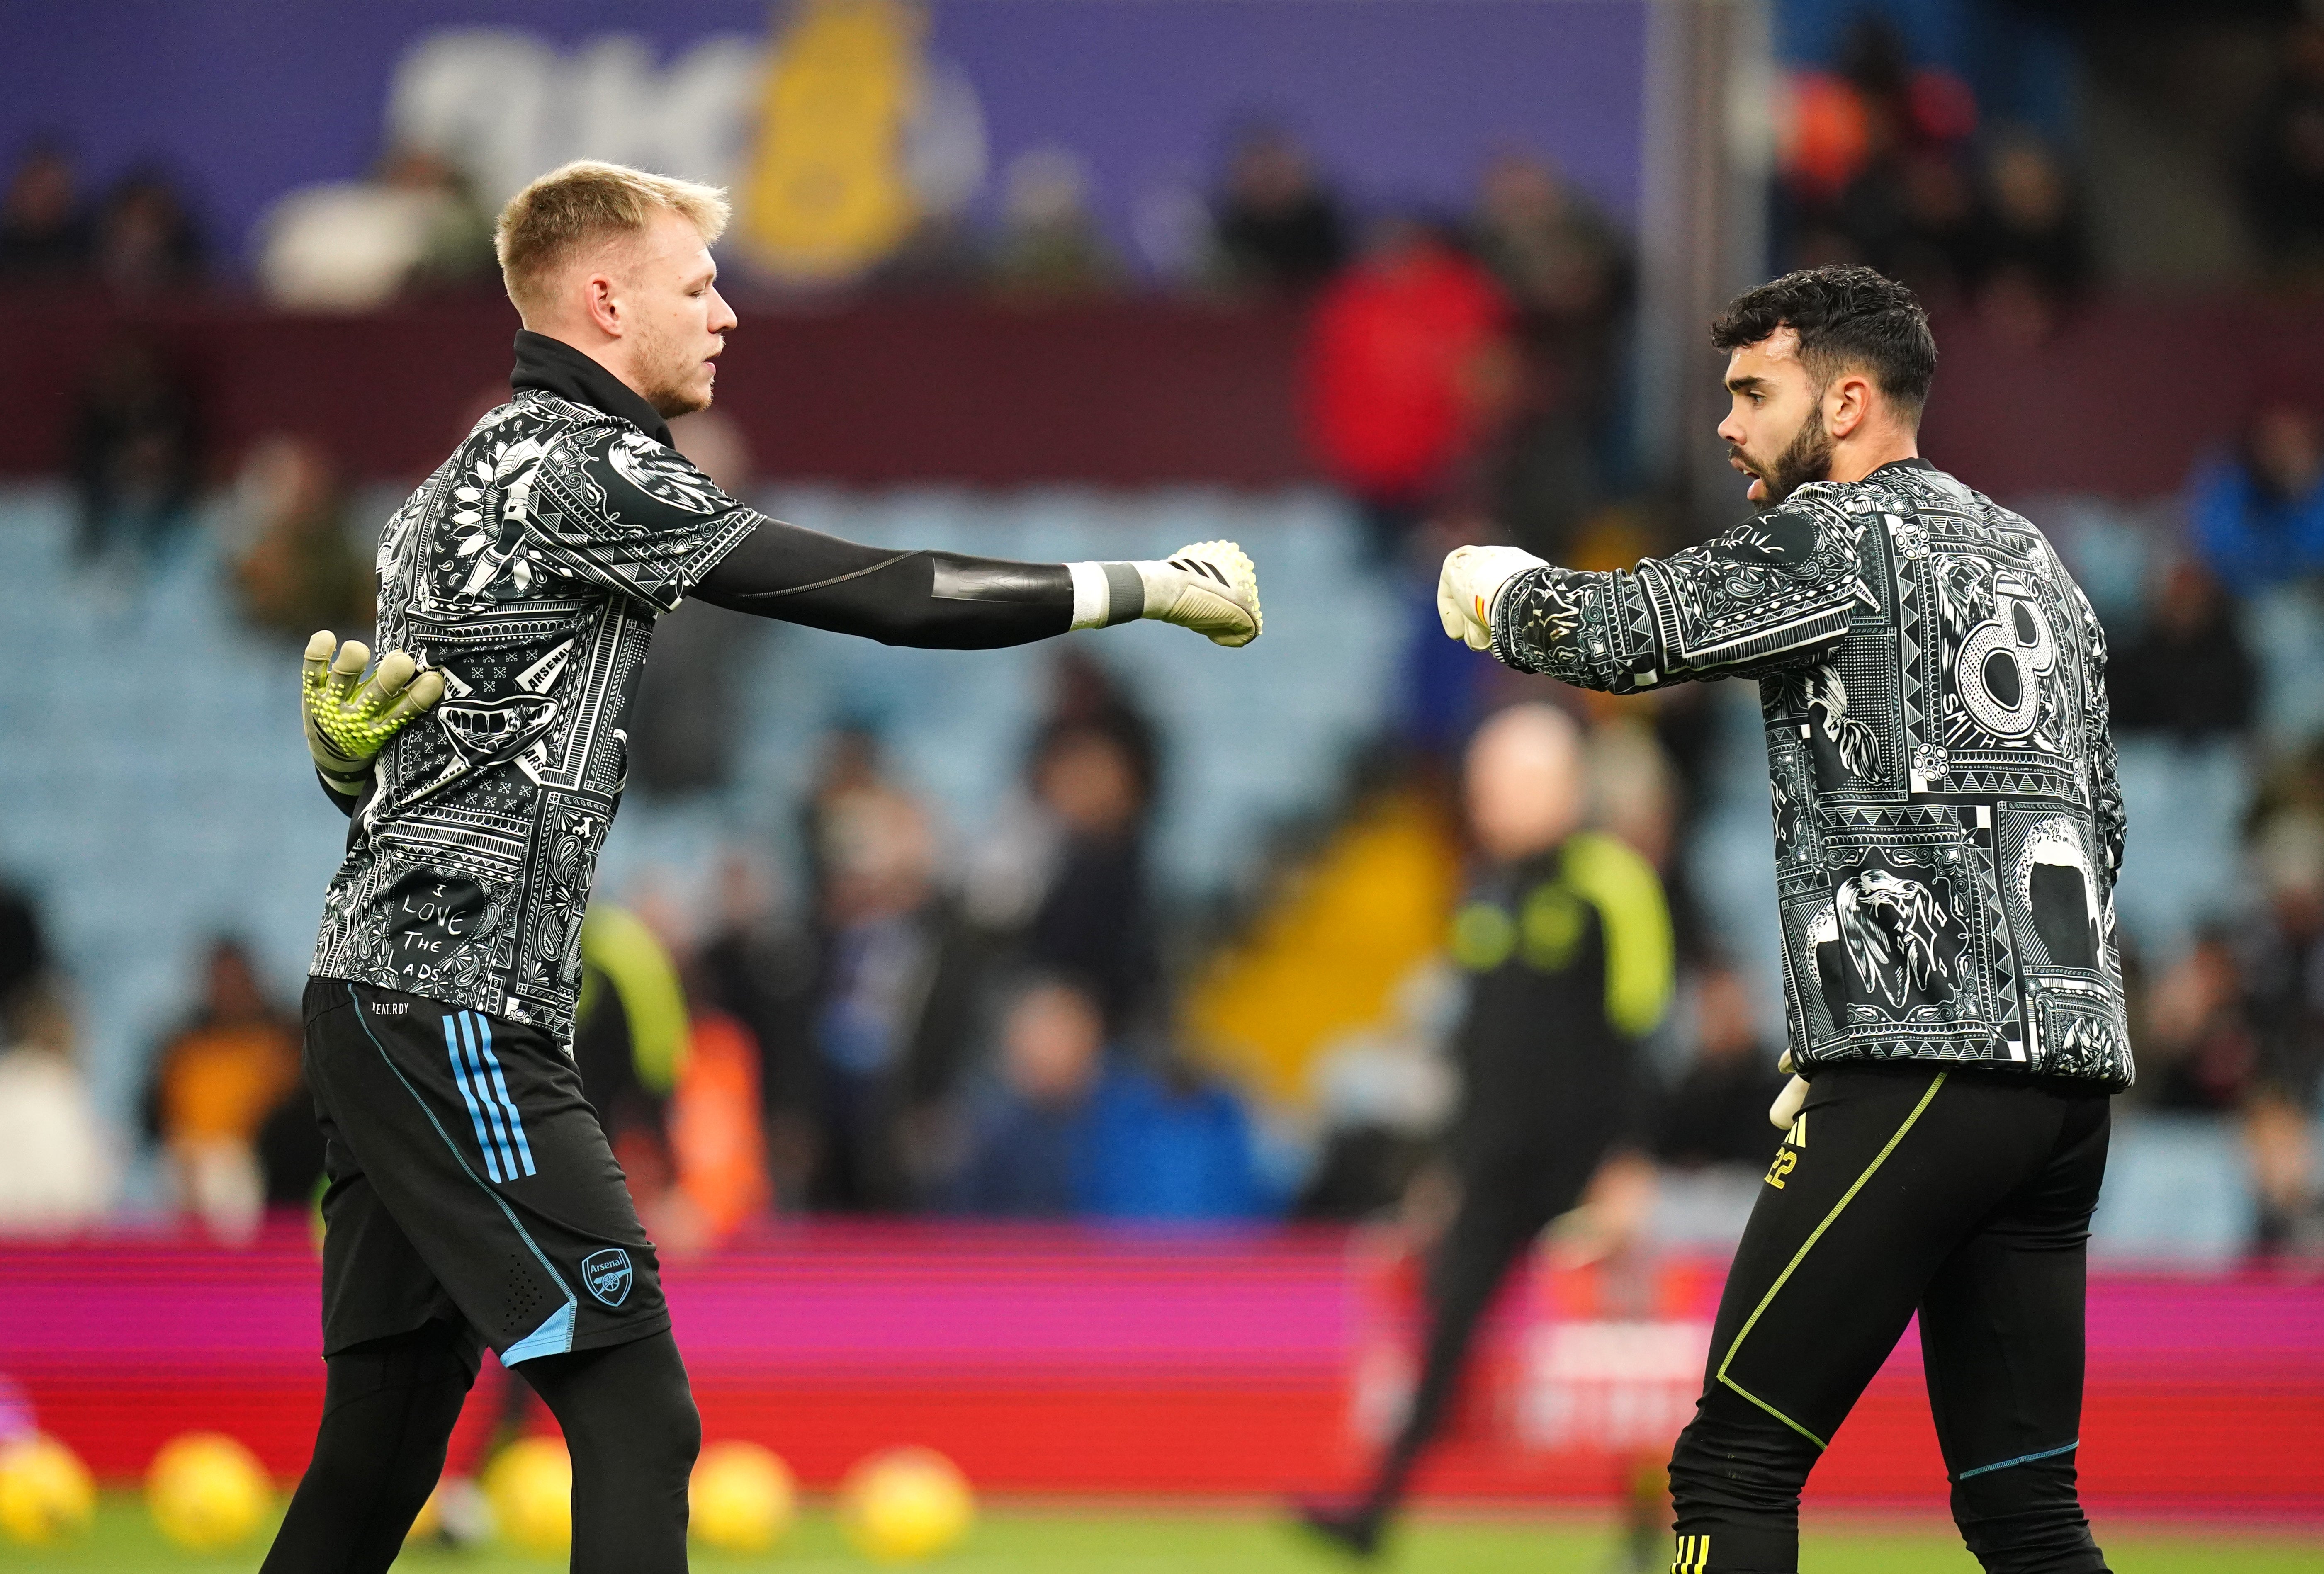
[[[2324,1574],[2324,1534],[2243,1534],[2208,1528],[2101,1532],[2117,1574]],[[251,1569],[263,1537],[232,1553],[172,1551],[135,1497],[109,1495],[95,1530],[72,1546],[0,1544],[7,1574],[160,1574],[163,1569]],[[1404,1528],[1371,1567],[1427,1574],[1608,1574],[1613,1532],[1590,1518],[1422,1516]],[[802,1516],[790,1539],[762,1558],[695,1551],[695,1567],[767,1569],[769,1574],[869,1574],[839,1537],[830,1514]],[[411,1551],[397,1574],[546,1574],[562,1560],[497,1551]],[[1355,1569],[1304,1539],[1283,1521],[1255,1511],[1197,1509],[1030,1509],[995,1504],[976,1534],[932,1574],[1332,1574]],[[1813,1530],[1801,1551],[1803,1574],[1975,1574],[1945,1525],[1841,1525]]]

